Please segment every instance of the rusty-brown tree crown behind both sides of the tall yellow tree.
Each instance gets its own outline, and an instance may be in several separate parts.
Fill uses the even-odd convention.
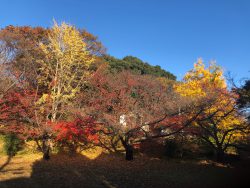
[[[86,49],[92,56],[98,56],[96,66],[101,64],[100,57],[105,54],[105,47],[96,36],[86,30],[77,29]],[[50,28],[9,25],[0,30],[0,54],[5,56],[5,63],[11,73],[22,73],[22,78],[33,88],[37,87],[40,65],[38,61],[45,56],[40,43],[47,43]],[[41,89],[41,88],[40,88]]]

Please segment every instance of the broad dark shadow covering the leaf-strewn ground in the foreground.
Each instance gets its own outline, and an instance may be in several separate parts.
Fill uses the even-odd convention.
[[[249,160],[233,167],[190,161],[138,156],[125,161],[121,156],[101,154],[94,160],[82,155],[52,156],[33,163],[30,178],[0,180],[1,188],[98,188],[98,187],[250,187]]]

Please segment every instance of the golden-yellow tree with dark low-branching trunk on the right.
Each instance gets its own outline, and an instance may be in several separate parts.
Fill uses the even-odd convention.
[[[247,134],[245,118],[237,109],[237,95],[227,88],[223,71],[215,63],[206,68],[199,59],[175,90],[197,103],[202,101],[203,105],[196,109],[202,108],[202,113],[188,130],[208,143],[218,160]]]

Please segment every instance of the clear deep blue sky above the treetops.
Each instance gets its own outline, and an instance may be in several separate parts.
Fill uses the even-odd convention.
[[[198,57],[250,77],[250,0],[0,0],[0,27],[66,21],[181,79]]]

